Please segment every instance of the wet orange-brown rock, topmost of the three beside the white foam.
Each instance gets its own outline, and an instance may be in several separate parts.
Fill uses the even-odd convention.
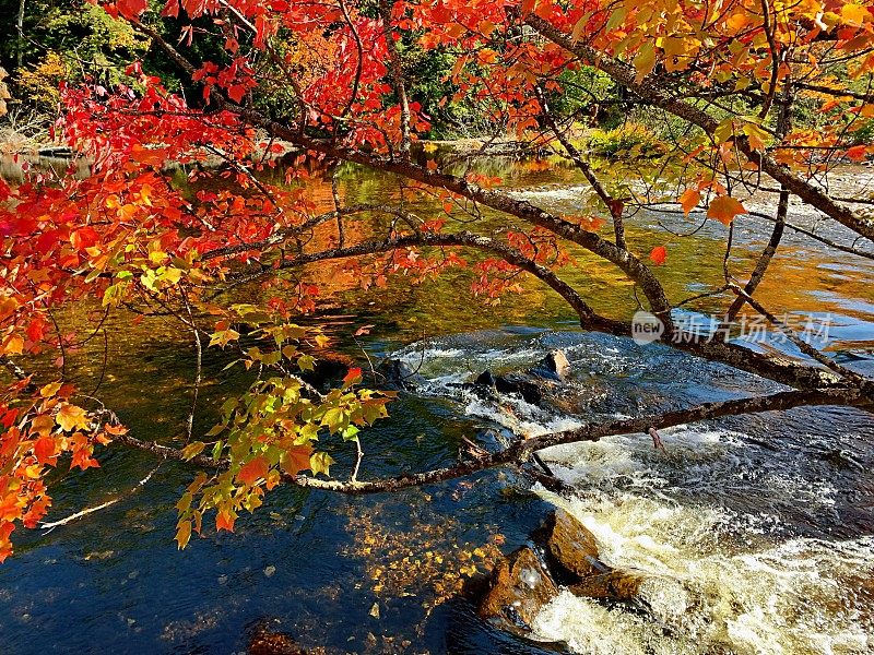
[[[553,560],[551,563],[570,581],[607,571],[598,559],[598,541],[594,535],[563,509],[550,513],[539,540]]]

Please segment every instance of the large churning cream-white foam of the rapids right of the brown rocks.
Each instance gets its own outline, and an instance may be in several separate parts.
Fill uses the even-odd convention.
[[[592,532],[604,562],[646,579],[639,597],[649,610],[607,608],[564,591],[535,620],[539,639],[611,655],[874,652],[874,585],[859,592],[872,584],[874,538],[780,540],[764,535],[756,517],[695,502],[696,489],[724,483],[722,467],[749,466],[741,437],[678,427],[662,433],[668,455],[642,436],[544,451],[579,491],[566,498],[535,489]],[[786,488],[776,493],[803,495],[811,484],[777,479]],[[672,495],[685,485],[681,502]]]

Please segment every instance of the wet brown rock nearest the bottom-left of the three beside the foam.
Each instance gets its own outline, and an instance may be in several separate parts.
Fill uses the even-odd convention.
[[[558,586],[538,555],[523,546],[492,572],[479,615],[503,630],[530,632],[541,609],[558,595]]]

